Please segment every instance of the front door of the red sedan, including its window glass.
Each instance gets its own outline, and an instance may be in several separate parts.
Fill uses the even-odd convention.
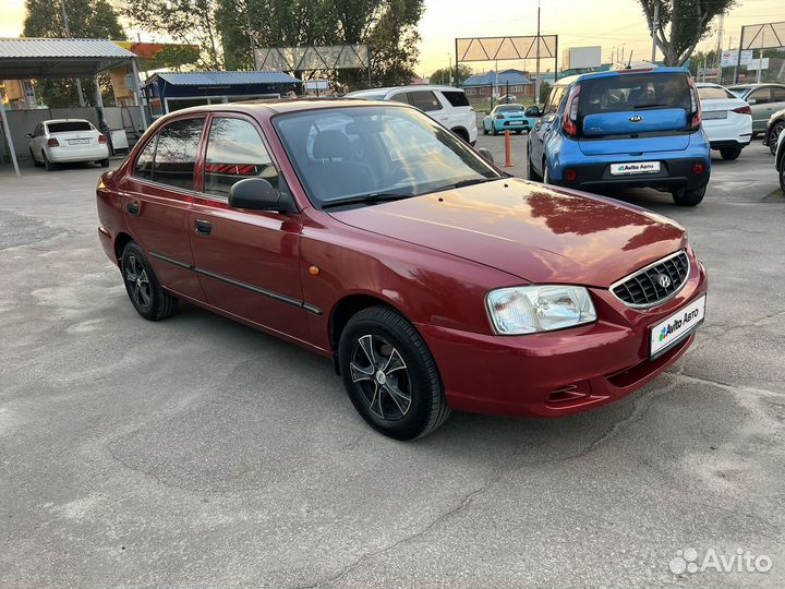
[[[309,332],[300,281],[300,215],[229,206],[229,190],[244,178],[264,178],[282,188],[262,137],[250,117],[213,116],[201,194],[189,220],[194,265],[209,304],[304,340]]]

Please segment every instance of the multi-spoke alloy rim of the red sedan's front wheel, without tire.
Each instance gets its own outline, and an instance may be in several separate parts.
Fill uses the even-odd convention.
[[[395,346],[377,335],[364,335],[353,345],[349,368],[352,383],[372,413],[388,421],[406,417],[412,404],[412,383]]]

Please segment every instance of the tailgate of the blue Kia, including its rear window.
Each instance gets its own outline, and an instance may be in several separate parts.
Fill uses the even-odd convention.
[[[683,72],[583,80],[578,103],[581,152],[597,156],[686,149],[690,92]]]

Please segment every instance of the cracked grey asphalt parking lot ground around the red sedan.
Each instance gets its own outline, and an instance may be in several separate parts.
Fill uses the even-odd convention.
[[[503,136],[478,146],[504,163]],[[710,274],[667,373],[414,443],[370,430],[326,359],[191,305],[137,316],[96,236],[101,171],[0,172],[0,587],[785,585],[785,197],[760,144],[714,159],[696,208],[624,195]],[[772,568],[676,575],[686,549]]]

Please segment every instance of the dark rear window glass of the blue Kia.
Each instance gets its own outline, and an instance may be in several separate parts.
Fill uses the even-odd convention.
[[[639,73],[581,82],[581,116],[657,108],[690,110],[690,89],[683,73]]]

